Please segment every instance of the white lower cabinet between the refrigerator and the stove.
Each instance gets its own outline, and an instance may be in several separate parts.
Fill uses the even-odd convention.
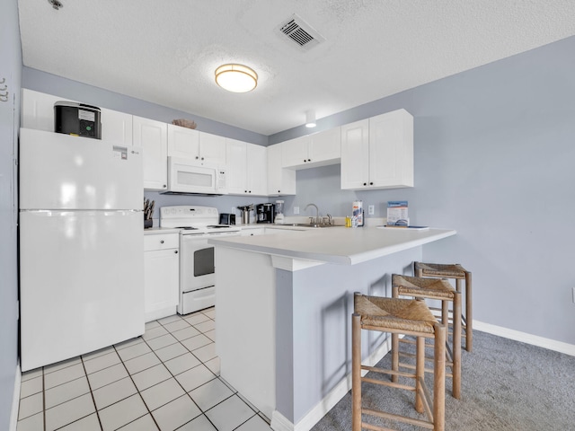
[[[180,291],[179,241],[179,233],[145,233],[146,321],[155,321],[176,313]]]

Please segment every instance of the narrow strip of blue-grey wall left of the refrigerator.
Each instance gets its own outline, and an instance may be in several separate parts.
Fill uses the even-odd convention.
[[[9,101],[0,101],[0,429],[10,429],[18,363],[18,200],[16,142],[19,129],[22,54],[15,0],[0,13],[0,80]],[[4,84],[0,85],[4,87]]]

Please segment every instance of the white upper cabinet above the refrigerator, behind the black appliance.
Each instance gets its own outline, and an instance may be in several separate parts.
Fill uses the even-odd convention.
[[[22,128],[54,131],[54,103],[70,101],[61,97],[22,89]],[[88,103],[89,104],[89,103]],[[102,139],[132,145],[132,116],[117,110],[100,108]]]

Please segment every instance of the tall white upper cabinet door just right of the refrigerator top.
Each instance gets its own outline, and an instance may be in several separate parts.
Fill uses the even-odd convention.
[[[133,119],[134,145],[144,150],[144,189],[165,190],[168,179],[167,124],[153,119]]]

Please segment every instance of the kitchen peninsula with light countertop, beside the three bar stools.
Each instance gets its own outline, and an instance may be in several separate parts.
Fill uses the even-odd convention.
[[[308,430],[350,389],[353,293],[391,296],[446,229],[328,227],[211,239],[221,376],[275,430]],[[375,363],[385,336],[365,334]],[[368,341],[368,342],[367,342]]]

